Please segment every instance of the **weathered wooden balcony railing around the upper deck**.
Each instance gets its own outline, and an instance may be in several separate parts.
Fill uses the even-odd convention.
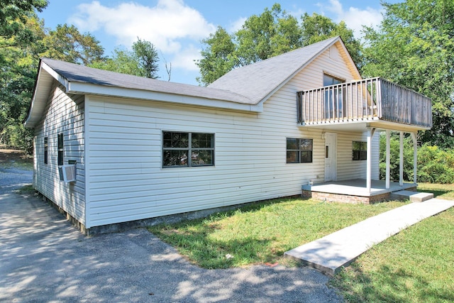
[[[301,125],[384,120],[432,127],[431,99],[380,77],[298,92],[297,100]]]

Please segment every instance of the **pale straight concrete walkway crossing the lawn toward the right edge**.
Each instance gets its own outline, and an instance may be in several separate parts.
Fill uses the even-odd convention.
[[[374,244],[452,206],[454,201],[441,199],[406,204],[289,250],[285,255],[334,275]]]

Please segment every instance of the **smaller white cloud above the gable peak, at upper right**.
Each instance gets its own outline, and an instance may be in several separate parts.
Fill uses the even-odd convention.
[[[336,22],[345,21],[348,28],[355,31],[355,37],[360,38],[362,26],[376,27],[382,21],[382,13],[378,9],[372,9],[367,6],[365,9],[358,9],[350,6],[345,10],[339,0],[329,0],[330,5],[317,4],[321,8],[333,14],[333,20]]]

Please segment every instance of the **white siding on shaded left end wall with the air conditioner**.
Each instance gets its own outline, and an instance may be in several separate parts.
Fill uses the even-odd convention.
[[[55,82],[56,83],[56,82]],[[77,181],[60,181],[57,135],[64,136],[64,160],[77,161]],[[48,164],[44,163],[44,138],[48,137]],[[75,219],[85,224],[84,96],[68,96],[57,84],[51,89],[43,119],[35,127],[33,185]]]

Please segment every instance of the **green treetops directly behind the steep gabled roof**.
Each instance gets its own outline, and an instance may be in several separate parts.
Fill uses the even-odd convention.
[[[341,35],[353,59],[359,64],[360,43],[344,22],[336,24],[330,18],[314,13],[312,16],[302,16],[300,24],[279,4],[274,4],[271,10],[265,8],[260,15],[250,16],[242,28],[232,35],[218,27],[214,34],[201,40],[206,47],[201,50],[202,58],[196,60],[201,75],[197,81],[208,85],[235,67],[265,60],[336,35]]]

